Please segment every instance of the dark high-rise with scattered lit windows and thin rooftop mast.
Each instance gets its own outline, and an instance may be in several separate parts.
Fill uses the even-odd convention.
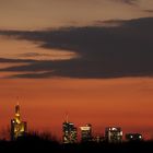
[[[74,123],[69,122],[68,119],[62,123],[62,141],[63,143],[75,143],[78,140],[78,131]]]

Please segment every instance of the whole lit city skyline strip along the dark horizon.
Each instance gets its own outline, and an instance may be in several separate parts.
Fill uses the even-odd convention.
[[[19,97],[17,97],[19,99]],[[71,122],[69,120],[69,114],[67,113],[64,116],[64,120],[62,122],[61,128],[61,134],[60,137],[55,136],[54,132],[51,132],[54,129],[50,129],[50,131],[34,131],[31,128],[27,128],[28,122],[23,121],[21,118],[21,106],[17,102],[15,105],[15,116],[13,119],[11,119],[11,125],[8,127],[10,130],[8,131],[8,136],[1,136],[0,139],[9,139],[11,141],[16,140],[20,137],[25,137],[28,133],[39,133],[39,132],[48,132],[48,134],[51,134],[56,137],[57,140],[61,141],[62,143],[78,143],[78,142],[109,142],[109,143],[120,143],[123,141],[141,141],[141,140],[152,140],[153,138],[145,138],[142,133],[139,133],[138,131],[128,131],[127,133],[121,129],[121,127],[105,127],[104,132],[96,132],[93,130],[93,125],[90,122],[85,126],[75,127],[74,122]],[[38,119],[38,118],[35,118]],[[96,125],[95,125],[96,126]],[[30,130],[28,130],[30,129]],[[79,130],[80,129],[80,130]]]

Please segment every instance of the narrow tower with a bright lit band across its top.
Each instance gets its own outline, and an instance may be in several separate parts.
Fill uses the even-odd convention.
[[[92,125],[86,125],[85,127],[80,127],[81,129],[81,141],[87,142],[92,141]]]

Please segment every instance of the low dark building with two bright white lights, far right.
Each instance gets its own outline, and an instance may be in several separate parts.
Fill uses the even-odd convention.
[[[142,141],[142,134],[140,133],[127,133],[126,134],[126,140],[127,141]]]

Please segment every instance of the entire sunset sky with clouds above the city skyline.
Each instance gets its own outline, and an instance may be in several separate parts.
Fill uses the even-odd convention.
[[[19,96],[30,130],[153,138],[152,75],[152,0],[0,0],[1,130]]]

